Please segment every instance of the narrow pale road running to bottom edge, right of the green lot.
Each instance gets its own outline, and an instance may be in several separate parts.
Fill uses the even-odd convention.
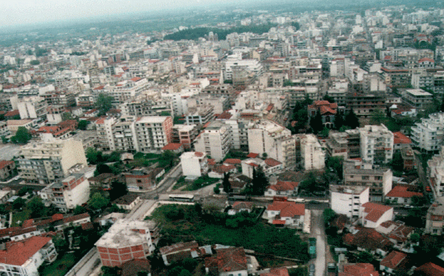
[[[325,275],[325,229],[321,210],[312,210],[312,229],[310,236],[316,238],[316,260],[314,267],[316,276]]]

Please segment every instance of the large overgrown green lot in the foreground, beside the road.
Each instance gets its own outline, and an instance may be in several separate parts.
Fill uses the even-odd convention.
[[[231,245],[258,253],[293,258],[305,263],[310,260],[307,243],[293,229],[277,229],[257,219],[257,214],[241,212],[234,216],[211,206],[177,206],[157,208],[151,217],[162,224],[159,247],[180,241],[196,240],[199,245]]]

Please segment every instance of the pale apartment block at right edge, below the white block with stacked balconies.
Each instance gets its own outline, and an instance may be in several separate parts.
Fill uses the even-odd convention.
[[[429,161],[428,174],[430,178],[430,187],[435,197],[444,196],[444,146],[441,146],[439,154],[436,154]]]

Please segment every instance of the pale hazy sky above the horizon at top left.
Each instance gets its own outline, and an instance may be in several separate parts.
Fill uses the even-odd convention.
[[[45,23],[110,14],[148,12],[223,0],[0,0],[1,26]]]

